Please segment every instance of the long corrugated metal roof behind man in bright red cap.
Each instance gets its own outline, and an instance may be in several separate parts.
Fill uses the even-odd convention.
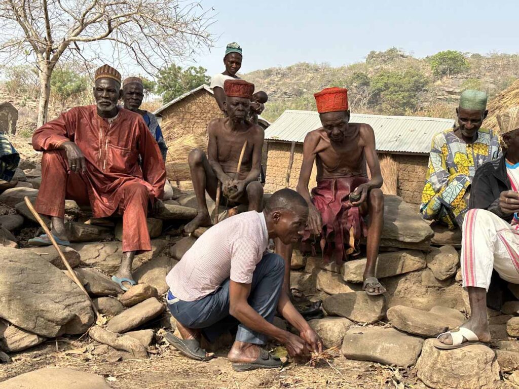
[[[428,154],[434,134],[452,128],[453,119],[416,116],[351,114],[351,122],[373,127],[378,151]],[[319,114],[287,109],[265,130],[265,139],[303,142],[308,132],[321,127]]]

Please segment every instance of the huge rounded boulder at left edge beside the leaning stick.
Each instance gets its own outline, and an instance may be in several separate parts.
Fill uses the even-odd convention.
[[[0,269],[0,317],[45,337],[83,334],[90,327],[94,315],[87,297],[46,260],[4,247]]]

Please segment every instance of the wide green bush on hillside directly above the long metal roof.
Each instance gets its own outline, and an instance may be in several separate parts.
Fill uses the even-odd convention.
[[[386,115],[403,115],[416,109],[418,94],[427,84],[425,75],[413,68],[404,72],[383,70],[371,78],[371,105]]]

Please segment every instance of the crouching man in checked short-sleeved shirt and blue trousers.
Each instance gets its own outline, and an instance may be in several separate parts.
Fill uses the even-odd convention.
[[[204,233],[166,277],[168,308],[182,339],[166,339],[185,356],[208,360],[200,336],[215,340],[238,324],[227,355],[234,370],[277,368],[281,361],[263,350],[267,338],[295,358],[322,351],[322,340],[294,308],[283,286],[284,261],[266,253],[268,240],[296,241],[308,218],[306,201],[291,189],[275,192],[263,212],[228,218]],[[299,336],[272,325],[278,312]]]

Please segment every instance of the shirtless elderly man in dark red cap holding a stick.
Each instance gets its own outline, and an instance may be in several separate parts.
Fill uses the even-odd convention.
[[[260,212],[263,187],[258,182],[265,133],[257,124],[247,120],[254,84],[243,80],[225,80],[225,109],[228,117],[213,119],[209,123],[208,155],[194,149],[189,154],[189,168],[198,203],[198,214],[185,231],[191,233],[201,226],[210,226],[211,216],[207,208],[206,190],[216,198],[218,181],[222,183],[222,195],[227,205],[248,204],[249,211]],[[241,169],[235,179],[243,144],[247,147]]]

